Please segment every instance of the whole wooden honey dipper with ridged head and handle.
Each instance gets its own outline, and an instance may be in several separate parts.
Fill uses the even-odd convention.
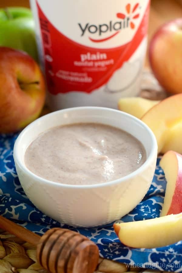
[[[52,228],[41,237],[0,216],[0,227],[37,247],[37,261],[52,273],[93,273],[99,249],[85,236],[69,229]]]

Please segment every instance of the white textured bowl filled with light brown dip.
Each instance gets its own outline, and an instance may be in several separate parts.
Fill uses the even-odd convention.
[[[103,225],[129,213],[149,189],[156,159],[157,142],[147,125],[102,107],[45,115],[27,126],[14,146],[16,170],[29,199],[72,226]]]

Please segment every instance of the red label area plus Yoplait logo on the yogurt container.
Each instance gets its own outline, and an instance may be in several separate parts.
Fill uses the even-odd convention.
[[[116,21],[111,20],[98,25],[78,22],[80,41],[83,36],[84,38],[88,36],[93,47],[75,42],[63,35],[49,21],[38,3],[37,6],[46,79],[49,92],[52,94],[69,91],[90,93],[103,86],[112,74],[130,59],[147,33],[149,3],[138,26],[135,22],[141,15],[137,2],[133,6],[127,4],[124,12],[118,11]],[[135,33],[129,42],[116,47],[113,44],[111,48],[102,48],[104,42],[111,42],[119,35],[122,37],[123,29]],[[93,37],[93,34],[97,34],[97,37]]]

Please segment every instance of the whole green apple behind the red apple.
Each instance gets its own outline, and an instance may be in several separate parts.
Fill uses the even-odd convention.
[[[0,46],[26,51],[38,60],[35,25],[29,8],[0,9]]]

